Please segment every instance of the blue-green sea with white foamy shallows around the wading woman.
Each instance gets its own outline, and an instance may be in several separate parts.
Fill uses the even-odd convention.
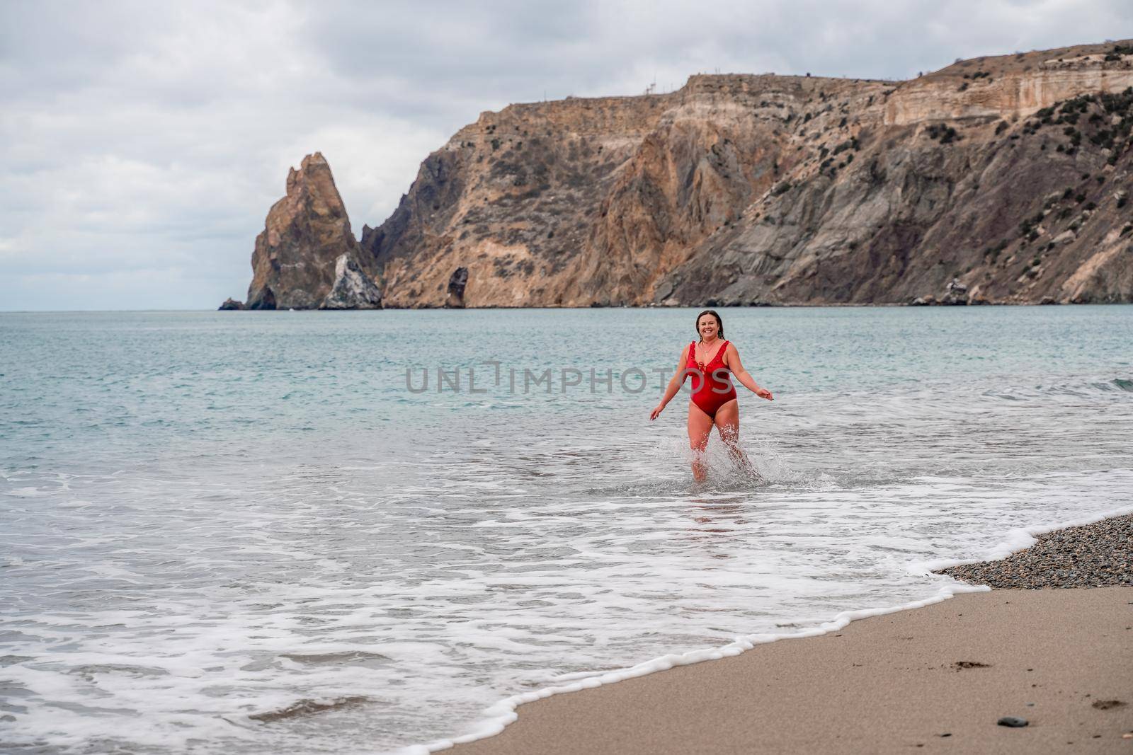
[[[1133,511],[1133,307],[721,309],[704,483],[697,311],[0,312],[0,750],[423,753]]]

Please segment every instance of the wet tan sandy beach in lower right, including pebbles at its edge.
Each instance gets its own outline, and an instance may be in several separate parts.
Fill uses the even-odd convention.
[[[1077,580],[1074,564],[1096,560],[1089,554],[1098,544],[1116,565],[1110,576],[1127,574],[1131,542],[1113,538],[1125,518],[1041,538],[1032,561],[1046,569],[1029,573],[1046,587],[1063,586],[1053,573]],[[994,577],[999,565],[1017,573],[1028,557],[1024,550],[969,572]],[[962,594],[833,634],[555,695],[518,713],[503,733],[455,749],[1133,753],[1133,587]],[[1003,717],[1028,726],[998,726]]]

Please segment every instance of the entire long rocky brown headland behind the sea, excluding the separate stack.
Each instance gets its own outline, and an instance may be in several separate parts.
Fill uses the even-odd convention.
[[[1131,86],[1108,43],[511,105],[361,246],[394,307],[1131,301]]]

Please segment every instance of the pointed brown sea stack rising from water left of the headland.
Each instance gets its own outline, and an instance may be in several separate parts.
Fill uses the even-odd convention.
[[[331,166],[321,153],[307,155],[299,170],[288,173],[287,196],[272,205],[256,237],[252,272],[246,309],[315,309],[343,275],[349,280],[331,308],[341,308],[334,303],[350,297],[373,300],[373,271],[360,256]],[[355,281],[355,275],[364,281]]]

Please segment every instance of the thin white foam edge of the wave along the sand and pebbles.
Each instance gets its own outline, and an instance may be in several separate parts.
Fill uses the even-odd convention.
[[[931,572],[942,568],[948,568],[952,566],[963,566],[966,564],[979,564],[981,561],[998,560],[1006,558],[1014,552],[1030,548],[1036,543],[1036,535],[1046,534],[1048,532],[1054,532],[1055,530],[1064,530],[1073,526],[1081,526],[1084,524],[1093,524],[1094,522],[1100,522],[1114,516],[1124,516],[1125,514],[1133,514],[1133,506],[1123,506],[1121,508],[1111,509],[1101,514],[1088,515],[1082,518],[1072,520],[1070,522],[1064,522],[1060,524],[1043,524],[1033,527],[1020,527],[1011,530],[1004,541],[997,543],[993,547],[983,558],[974,559],[963,559],[963,560],[938,560],[938,561],[918,561],[910,565],[910,570],[917,574],[930,575]],[[784,632],[784,633],[760,633],[743,635],[736,637],[733,642],[722,645],[719,647],[701,649],[695,650],[687,653],[670,653],[667,655],[662,655],[648,661],[644,661],[636,666],[631,666],[624,669],[617,669],[614,671],[606,671],[600,674],[595,674],[593,676],[586,676],[583,678],[573,681],[572,684],[559,685],[553,687],[544,687],[542,689],[536,689],[529,693],[522,693],[519,695],[512,695],[506,697],[499,703],[492,705],[485,711],[485,719],[479,721],[476,728],[466,735],[459,737],[452,737],[449,739],[437,739],[425,745],[412,745],[410,747],[404,747],[395,750],[399,755],[426,755],[427,753],[435,753],[444,749],[449,749],[460,744],[476,741],[478,739],[487,739],[488,737],[494,737],[501,733],[509,723],[512,723],[519,718],[518,709],[523,703],[533,703],[537,700],[544,697],[551,697],[552,695],[560,695],[571,692],[581,692],[582,689],[589,689],[593,687],[600,687],[607,684],[614,684],[616,681],[622,681],[624,679],[632,679],[634,677],[647,676],[649,674],[655,674],[657,671],[665,671],[678,666],[689,666],[692,663],[700,663],[704,661],[715,661],[722,658],[729,658],[732,655],[739,655],[740,653],[753,649],[756,645],[768,644],[778,640],[799,640],[803,637],[815,637],[830,632],[837,632],[845,628],[847,624],[855,619],[864,619],[871,616],[884,616],[886,614],[896,614],[898,611],[905,611],[914,608],[923,608],[926,606],[931,606],[932,603],[939,603],[954,595],[970,593],[970,592],[989,592],[991,587],[985,585],[971,585],[956,580],[953,580],[954,584],[940,587],[934,595],[926,598],[923,600],[917,600],[908,603],[902,603],[900,606],[891,606],[886,608],[864,608],[853,611],[842,611],[836,615],[832,620],[820,624],[817,627],[809,629],[800,629],[798,632]],[[577,672],[582,674],[582,672]],[[565,677],[572,677],[577,674],[564,675]]]

